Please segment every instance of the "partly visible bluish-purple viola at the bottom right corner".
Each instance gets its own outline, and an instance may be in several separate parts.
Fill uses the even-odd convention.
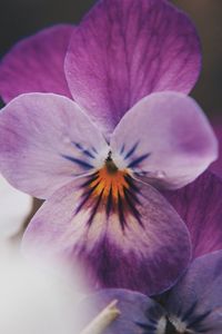
[[[196,258],[162,296],[161,304],[135,292],[105,289],[88,297],[81,307],[88,310],[91,318],[113,299],[118,301],[120,316],[103,334],[220,334],[222,250]]]

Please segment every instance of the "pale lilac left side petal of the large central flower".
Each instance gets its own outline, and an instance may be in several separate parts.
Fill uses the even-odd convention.
[[[0,170],[17,188],[47,198],[73,177],[89,173],[102,135],[70,99],[22,95],[0,115]]]

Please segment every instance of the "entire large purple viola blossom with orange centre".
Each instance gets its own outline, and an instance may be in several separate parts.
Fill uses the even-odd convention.
[[[168,2],[104,0],[78,28],[52,28],[4,58],[6,101],[30,89],[67,95],[21,95],[1,112],[1,173],[47,199],[24,247],[78,258],[95,286],[157,294],[174,284],[190,236],[151,185],[182,187],[216,158],[206,118],[184,95],[199,51]]]

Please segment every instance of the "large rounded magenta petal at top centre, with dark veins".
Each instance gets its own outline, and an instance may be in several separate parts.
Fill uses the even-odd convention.
[[[150,92],[189,92],[200,58],[194,27],[172,4],[103,0],[73,32],[65,75],[74,100],[110,134]]]

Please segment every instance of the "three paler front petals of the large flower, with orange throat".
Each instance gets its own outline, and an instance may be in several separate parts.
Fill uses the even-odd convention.
[[[150,95],[125,114],[108,144],[70,99],[23,95],[2,109],[0,144],[6,178],[48,199],[24,244],[78,257],[95,285],[153,294],[184,271],[188,230],[151,184],[181,187],[216,157],[212,129],[191,98]]]

